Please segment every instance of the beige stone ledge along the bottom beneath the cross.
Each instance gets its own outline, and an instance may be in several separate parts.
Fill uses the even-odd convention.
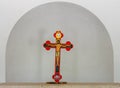
[[[0,88],[119,88],[120,84],[118,83],[79,83],[79,84],[39,84],[39,83],[8,83],[0,84]]]

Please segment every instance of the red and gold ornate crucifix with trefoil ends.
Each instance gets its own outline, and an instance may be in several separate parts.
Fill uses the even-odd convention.
[[[50,50],[50,48],[55,48],[55,73],[52,76],[52,78],[55,80],[56,83],[59,83],[59,80],[62,79],[62,75],[60,74],[60,52],[61,48],[65,48],[67,51],[69,51],[71,48],[73,48],[73,45],[70,41],[67,41],[66,43],[61,43],[60,40],[63,37],[63,33],[61,31],[56,31],[54,33],[54,37],[56,39],[55,43],[51,43],[49,40],[44,43],[44,48],[46,50]]]

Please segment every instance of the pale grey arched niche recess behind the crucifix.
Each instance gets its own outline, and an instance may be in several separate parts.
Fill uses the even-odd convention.
[[[61,29],[62,42],[74,48],[61,52],[61,73],[67,82],[113,82],[113,49],[101,21],[85,8],[67,2],[52,2],[33,8],[12,29],[6,47],[7,82],[47,82],[54,73],[54,42]]]

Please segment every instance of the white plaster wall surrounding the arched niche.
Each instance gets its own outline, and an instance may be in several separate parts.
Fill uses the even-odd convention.
[[[10,31],[28,10],[58,0],[0,0],[0,82],[5,82],[5,50]],[[120,1],[61,0],[79,4],[94,13],[107,28],[114,49],[114,82],[120,82]]]

